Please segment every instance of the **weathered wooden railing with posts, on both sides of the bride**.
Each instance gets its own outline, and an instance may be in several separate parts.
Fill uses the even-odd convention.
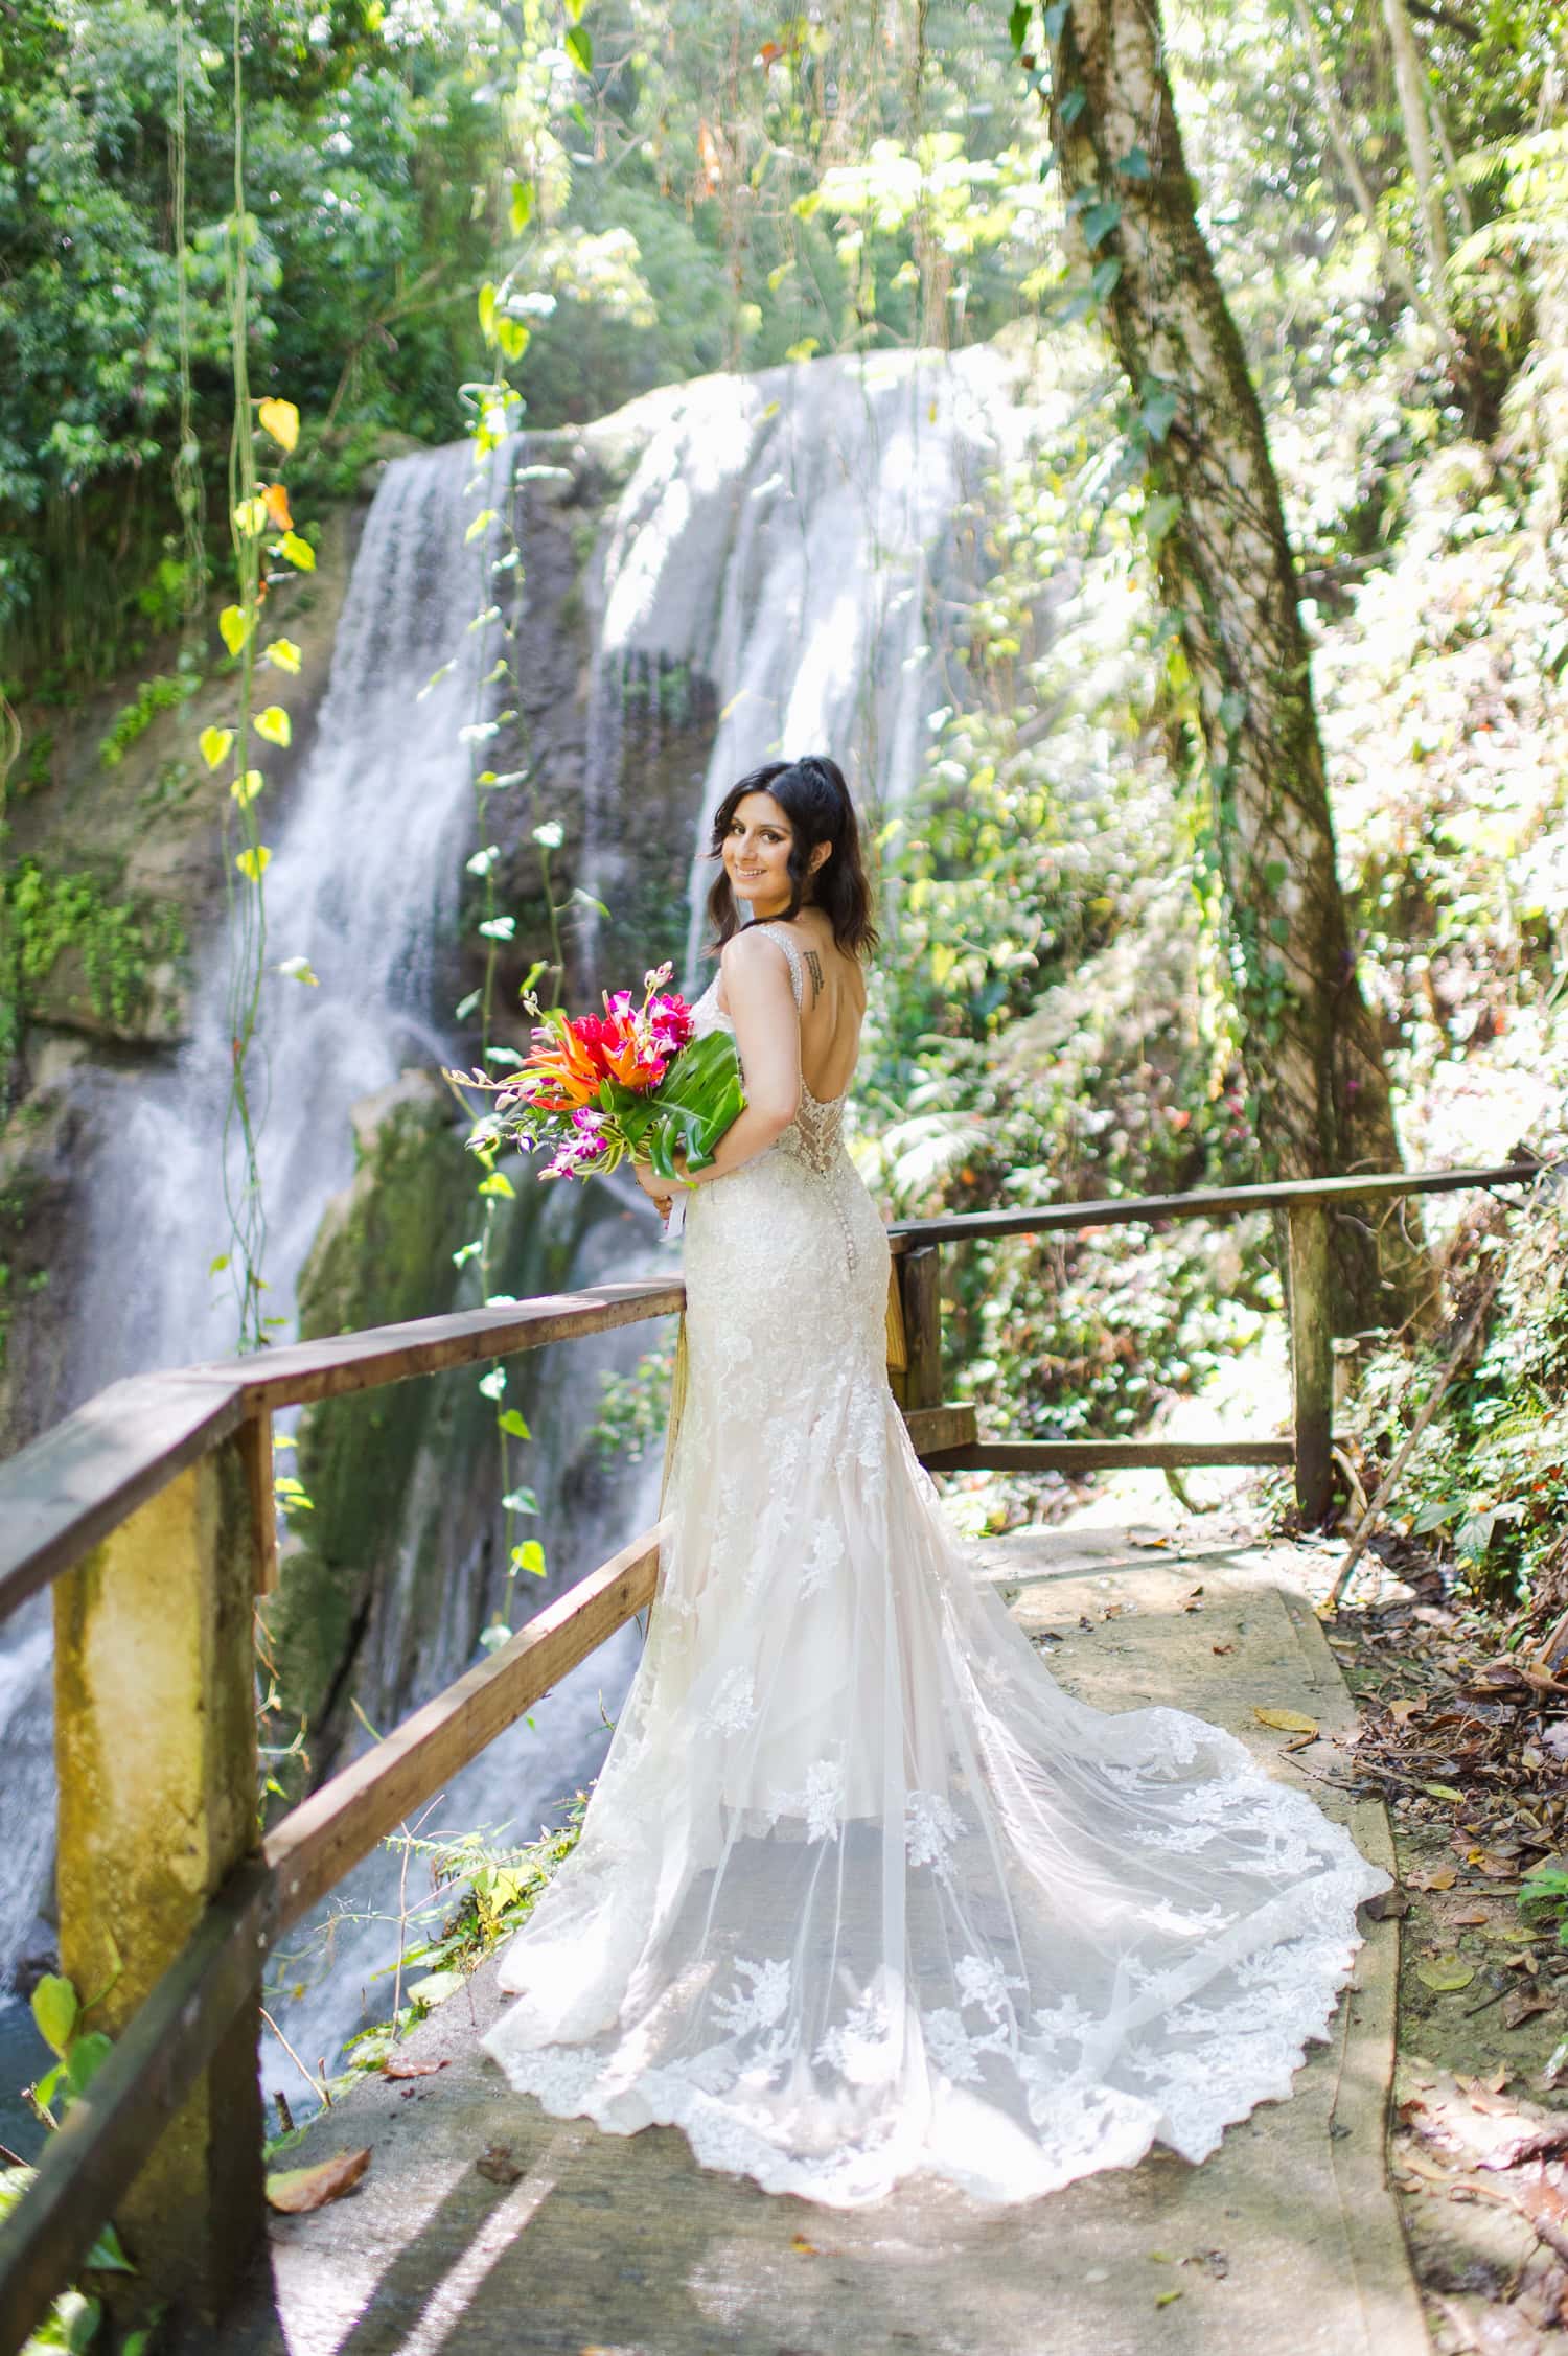
[[[891,1230],[896,1390],[934,1468],[1294,1463],[1332,1480],[1330,1216],[1535,1164],[1127,1197]],[[988,1442],[941,1381],[941,1249],[1122,1220],[1287,1218],[1290,1440]],[[141,2278],[217,2318],[262,2233],[262,1965],[342,1875],[634,1612],[655,1534],[622,1548],[257,1847],[252,1604],[271,1583],[271,1411],[663,1317],[672,1282],[606,1284],[116,1383],[0,1465],[0,1616],[54,1586],[61,1967],[113,2052],[0,2229],[0,2356],[14,2356],[116,2212]]]

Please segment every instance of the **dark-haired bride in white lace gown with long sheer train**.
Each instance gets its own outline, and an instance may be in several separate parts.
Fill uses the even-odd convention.
[[[712,853],[696,1023],[747,1110],[689,1197],[658,1600],[483,2043],[556,2116],[832,2205],[1203,2160],[1327,2036],[1389,1878],[1217,1727],[1068,1699],[976,1579],[839,1138],[875,940],[842,773],[743,777]]]

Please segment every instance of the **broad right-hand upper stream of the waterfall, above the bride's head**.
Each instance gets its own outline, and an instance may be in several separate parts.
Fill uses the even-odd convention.
[[[1019,358],[877,351],[700,377],[604,434],[653,424],[604,540],[589,888],[618,898],[615,709],[627,669],[691,667],[717,723],[691,843],[686,973],[712,869],[707,825],[759,761],[830,752],[875,822],[915,785],[955,589],[976,573],[960,511],[1023,455]],[[608,707],[608,712],[606,712]]]

